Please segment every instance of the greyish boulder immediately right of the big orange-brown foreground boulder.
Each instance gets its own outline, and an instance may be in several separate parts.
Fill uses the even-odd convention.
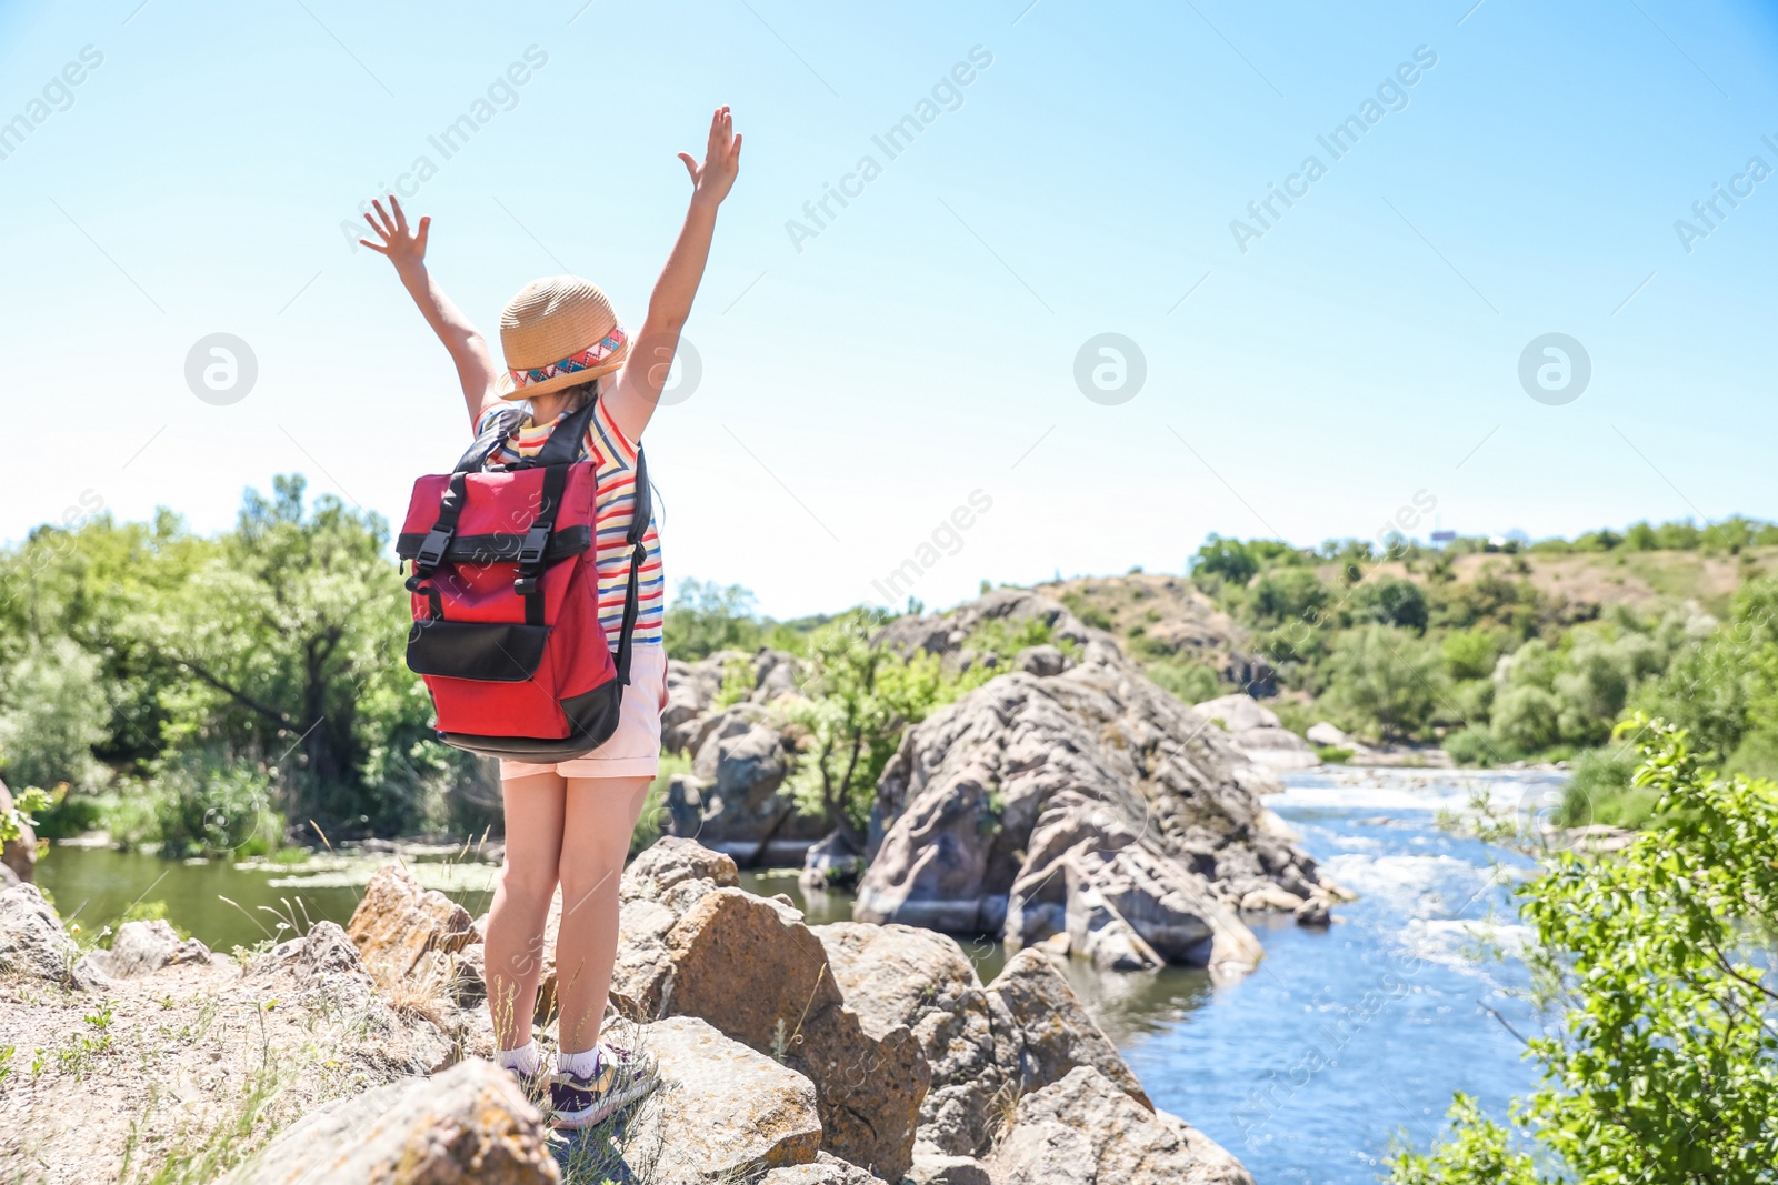
[[[955,938],[912,926],[816,926],[846,1007],[866,1030],[905,1025],[932,1066],[914,1153],[980,1155],[1013,1096],[1022,1038]],[[997,1006],[997,1007],[996,1007]]]

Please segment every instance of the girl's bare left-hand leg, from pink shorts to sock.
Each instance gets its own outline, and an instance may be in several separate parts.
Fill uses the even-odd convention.
[[[487,1007],[494,1045],[516,1050],[532,1039],[537,981],[542,977],[544,920],[562,856],[565,778],[533,773],[500,783],[507,815],[507,858],[487,910]]]

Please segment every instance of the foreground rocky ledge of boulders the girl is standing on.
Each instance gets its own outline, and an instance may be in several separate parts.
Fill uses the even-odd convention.
[[[683,839],[642,853],[621,897],[613,1023],[656,1054],[661,1087],[567,1141],[485,1061],[480,922],[400,865],[347,929],[320,922],[240,959],[164,922],[130,922],[110,950],[82,954],[36,887],[7,887],[0,1130],[25,1139],[0,1142],[0,1174],[1252,1181],[1154,1107],[1042,950],[983,984],[953,938],[807,926]],[[576,970],[546,949],[548,977]]]

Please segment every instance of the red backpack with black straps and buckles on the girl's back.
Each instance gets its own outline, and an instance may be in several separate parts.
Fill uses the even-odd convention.
[[[580,460],[594,403],[557,423],[537,457],[484,469],[521,416],[507,412],[448,474],[414,481],[396,554],[412,561],[407,666],[425,679],[439,741],[548,764],[605,744],[629,682],[629,634],[649,526],[637,449],[629,588],[613,657],[599,627],[596,465]]]

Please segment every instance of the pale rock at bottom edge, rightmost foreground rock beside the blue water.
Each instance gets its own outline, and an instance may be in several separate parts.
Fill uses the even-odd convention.
[[[1253,1185],[1207,1135],[1138,1107],[1090,1066],[1021,1098],[985,1167],[994,1185]]]

